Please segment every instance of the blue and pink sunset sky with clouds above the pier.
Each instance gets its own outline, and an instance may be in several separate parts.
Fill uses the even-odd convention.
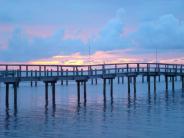
[[[183,0],[0,0],[0,63],[184,63]]]

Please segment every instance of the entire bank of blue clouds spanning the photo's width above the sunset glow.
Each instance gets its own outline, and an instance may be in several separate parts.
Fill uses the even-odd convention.
[[[136,29],[126,36],[127,14],[119,9],[114,18],[108,21],[99,33],[87,43],[76,38],[65,38],[61,29],[47,37],[31,37],[21,28],[15,29],[8,40],[7,47],[0,51],[1,61],[32,61],[56,55],[88,54],[89,45],[92,53],[132,49],[130,53],[145,54],[155,49],[180,49],[184,51],[184,22],[172,14],[158,19],[141,22]],[[77,35],[77,34],[76,34]]]

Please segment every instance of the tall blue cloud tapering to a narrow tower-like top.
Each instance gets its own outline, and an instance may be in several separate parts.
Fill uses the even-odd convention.
[[[119,9],[116,16],[111,19],[100,31],[93,41],[93,50],[114,50],[130,47],[130,41],[123,37],[125,10]]]

